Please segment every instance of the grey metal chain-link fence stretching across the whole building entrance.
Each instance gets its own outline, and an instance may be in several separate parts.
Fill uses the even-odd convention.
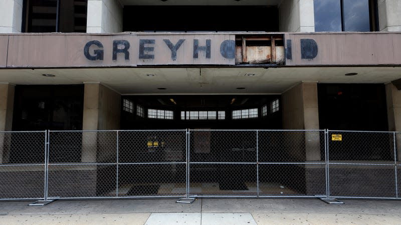
[[[193,143],[191,143],[191,138],[190,135],[192,132],[215,132],[215,131],[222,131],[222,132],[251,132],[252,135],[256,134],[256,158],[253,161],[196,161],[196,160],[191,160],[191,146]],[[52,152],[52,133],[60,133],[60,132],[66,132],[66,133],[75,133],[75,132],[80,132],[80,133],[85,133],[85,132],[93,132],[96,133],[96,137],[99,133],[110,133],[113,138],[115,137],[115,146],[113,146],[112,149],[115,151],[115,161],[95,161],[95,162],[86,162],[86,161],[79,161],[79,162],[54,162],[51,161],[51,154]],[[127,132],[132,132],[132,133],[143,133],[143,132],[183,132],[185,133],[185,140],[181,142],[177,142],[177,144],[180,144],[180,147],[182,147],[182,152],[185,154],[185,158],[182,161],[160,161],[160,160],[154,160],[154,161],[146,161],[146,162],[126,162],[126,161],[121,161],[120,159],[120,145],[121,145],[121,133],[127,133]],[[288,133],[291,134],[291,132],[299,132],[299,133],[306,133],[306,132],[318,132],[319,135],[320,133],[324,133],[324,138],[322,138],[320,141],[324,139],[324,160],[322,159],[321,161],[260,161],[260,154],[261,154],[261,133],[262,132],[283,132],[283,133]],[[331,159],[330,152],[333,150],[331,148],[335,147],[335,143],[333,143],[332,140],[330,140],[330,134],[333,132],[338,132],[338,133],[343,133],[343,134],[350,134],[354,133],[355,135],[360,135],[363,137],[363,134],[369,133],[371,135],[377,134],[378,138],[380,138],[380,135],[384,135],[385,139],[378,139],[377,141],[387,141],[387,135],[391,136],[392,141],[386,143],[388,146],[391,146],[392,151],[393,151],[393,160],[392,161],[364,161],[364,160],[355,160],[352,159],[351,161],[348,160],[333,160]],[[3,134],[3,136],[7,135],[7,133],[13,134],[13,133],[20,133],[23,135],[26,135],[27,138],[37,138],[35,137],[34,133],[38,134],[40,133],[41,135],[44,135],[44,141],[43,141],[43,150],[44,150],[44,159],[43,162],[40,163],[0,163],[0,169],[6,168],[6,167],[13,167],[13,166],[28,166],[28,167],[37,167],[37,166],[43,166],[44,167],[44,179],[43,179],[43,196],[34,196],[32,193],[24,193],[22,197],[16,197],[16,194],[8,196],[3,196],[1,197],[0,195],[0,200],[19,200],[19,199],[37,199],[42,202],[49,202],[54,199],[59,199],[59,198],[66,198],[66,199],[74,199],[74,198],[148,198],[148,197],[182,197],[184,199],[193,199],[194,197],[249,197],[249,198],[269,198],[269,197],[274,197],[274,198],[288,198],[288,197],[296,197],[296,198],[302,198],[302,197],[318,197],[322,199],[335,199],[335,198],[366,198],[366,199],[400,199],[399,194],[398,194],[398,189],[401,187],[401,180],[399,179],[399,171],[398,169],[401,168],[400,161],[397,161],[397,144],[396,144],[396,135],[401,135],[401,132],[387,132],[387,131],[359,131],[359,130],[297,130],[297,129],[289,129],[289,130],[267,130],[267,129],[168,129],[168,130],[45,130],[45,131],[0,131],[0,134]],[[183,135],[182,133],[182,135]],[[0,136],[0,138],[3,138],[3,136]],[[106,136],[107,137],[107,136]],[[252,137],[253,138],[253,137]],[[389,137],[388,137],[389,138]],[[362,139],[363,140],[363,139]],[[0,140],[1,143],[3,143],[3,140]],[[82,141],[82,140],[81,140]],[[92,141],[98,141],[98,139],[93,139]],[[263,141],[263,140],[262,140]],[[266,141],[266,140],[265,140]],[[95,146],[98,144],[98,142],[93,142]],[[181,146],[182,144],[182,146]],[[191,145],[192,144],[192,145]],[[321,146],[323,146],[323,143],[320,143]],[[368,143],[366,143],[368,144]],[[363,144],[362,144],[363,145]],[[111,146],[111,145],[110,145]],[[3,146],[0,146],[2,148]],[[82,146],[81,146],[82,147]],[[363,149],[364,146],[357,146],[358,149]],[[367,146],[368,147],[368,146]],[[330,150],[331,149],[331,150]],[[322,156],[323,157],[323,156]],[[401,157],[401,156],[399,156]],[[114,159],[113,159],[114,160]],[[121,169],[123,169],[122,166],[126,165],[145,165],[145,166],[150,166],[150,165],[168,165],[168,164],[175,164],[176,165],[182,165],[184,166],[184,180],[185,180],[185,193],[182,195],[174,195],[174,194],[165,194],[165,195],[140,195],[140,196],[125,196],[124,194],[121,194],[121,183],[119,183],[119,179],[121,178]],[[237,192],[236,194],[196,194],[196,192],[193,192],[191,190],[191,165],[201,165],[201,164],[218,164],[221,166],[228,166],[228,165],[249,165],[251,166],[251,171],[255,171],[253,169],[256,169],[256,190],[255,193],[249,194],[247,192]],[[324,194],[319,194],[319,195],[310,195],[310,194],[265,194],[262,193],[261,191],[261,166],[290,166],[290,165],[300,165],[306,166],[306,165],[321,165],[322,167],[318,168],[323,168],[324,167],[324,190],[322,189],[322,193]],[[68,166],[74,167],[74,166],[115,166],[115,183],[112,185],[115,188],[115,194],[114,195],[105,195],[105,196],[84,196],[84,195],[72,195],[72,196],[57,196],[54,194],[49,193],[49,171],[52,171],[50,167],[54,166],[59,166],[59,168],[62,168],[61,170],[65,173],[68,173],[69,171],[74,171],[73,169],[69,170]],[[253,167],[255,166],[255,168]],[[347,167],[348,166],[348,167]],[[362,166],[362,169],[357,169],[359,168],[358,166]],[[28,168],[27,167],[27,168]],[[312,166],[313,167],[313,166]],[[369,193],[369,189],[366,188],[363,191],[364,192],[358,192],[358,193],[352,193],[349,194],[347,192],[339,192],[337,188],[337,193],[334,193],[333,188],[335,188],[335,183],[333,183],[333,179],[336,179],[333,176],[333,172],[335,172],[336,168],[338,169],[345,169],[346,171],[349,171],[350,173],[352,172],[362,172],[362,173],[368,173],[370,170],[369,169],[374,169],[374,168],[383,168],[379,169],[380,171],[387,172],[388,177],[394,177],[393,180],[386,180],[388,183],[393,183],[395,184],[394,188],[390,188],[391,190],[394,190],[394,194],[391,193],[385,193],[383,196],[380,194],[375,194],[373,191],[372,193]],[[389,169],[386,168],[393,167],[393,174],[388,174],[390,171]],[[63,168],[67,168],[64,169]],[[363,169],[364,168],[364,169]],[[98,169],[96,167],[96,174],[98,173]],[[391,169],[392,170],[392,169]],[[22,170],[19,170],[22,171]],[[30,170],[27,170],[29,172]],[[168,171],[165,171],[168,172]],[[183,174],[183,173],[182,173]],[[71,174],[70,174],[71,175]],[[255,175],[255,174],[253,174]],[[51,181],[54,181],[54,174],[50,174],[50,176],[53,176],[51,178]],[[236,177],[231,177],[232,179],[235,179]],[[60,177],[58,177],[60,179]],[[358,182],[360,179],[353,179],[352,176],[347,177],[348,181],[350,182]],[[183,182],[182,182],[183,183]],[[337,179],[338,183],[338,179]],[[40,185],[42,186],[42,184]],[[2,193],[2,190],[0,189],[0,194]],[[334,193],[334,194],[333,194]],[[338,194],[340,193],[340,194]],[[364,194],[368,193],[368,194]],[[27,197],[28,196],[28,197]],[[39,204],[39,203],[38,203]],[[42,203],[41,205],[43,205]],[[34,204],[35,205],[35,204]]]

